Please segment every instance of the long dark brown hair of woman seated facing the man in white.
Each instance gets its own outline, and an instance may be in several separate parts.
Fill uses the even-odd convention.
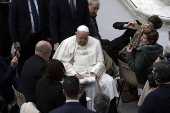
[[[65,68],[61,61],[51,59],[46,64],[45,79],[49,81],[61,81],[64,77]]]

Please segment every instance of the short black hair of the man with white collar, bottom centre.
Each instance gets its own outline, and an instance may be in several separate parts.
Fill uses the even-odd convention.
[[[70,98],[76,98],[79,93],[79,80],[75,76],[67,76],[63,82],[63,89]]]

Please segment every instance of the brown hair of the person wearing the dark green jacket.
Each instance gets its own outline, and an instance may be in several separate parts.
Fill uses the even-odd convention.
[[[142,34],[146,34],[149,44],[155,44],[158,40],[159,34],[154,28],[144,29]]]

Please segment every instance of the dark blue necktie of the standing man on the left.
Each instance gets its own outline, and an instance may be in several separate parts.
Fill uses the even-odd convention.
[[[36,7],[35,7],[35,3],[34,3],[33,0],[30,0],[30,4],[31,4],[33,21],[34,21],[34,30],[35,30],[36,32],[38,32],[39,29],[40,29],[40,26],[39,26],[37,9],[36,9]]]

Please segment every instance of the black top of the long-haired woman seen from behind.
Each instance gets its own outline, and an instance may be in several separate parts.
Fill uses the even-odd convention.
[[[35,88],[38,110],[41,113],[49,113],[49,111],[62,106],[66,100],[62,90],[63,86],[59,81],[49,82],[40,78]]]

